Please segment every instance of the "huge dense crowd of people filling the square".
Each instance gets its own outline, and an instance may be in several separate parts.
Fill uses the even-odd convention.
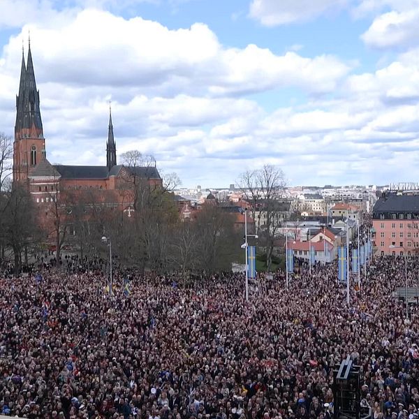
[[[177,277],[47,270],[0,279],[0,414],[21,418],[330,419],[333,369],[360,365],[374,419],[416,419],[418,309],[395,290],[399,258],[360,287],[334,265],[263,275]],[[418,286],[419,260],[409,260]],[[354,279],[355,281],[356,279]]]

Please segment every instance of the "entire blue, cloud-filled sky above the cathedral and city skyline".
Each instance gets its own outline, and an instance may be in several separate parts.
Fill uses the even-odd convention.
[[[22,44],[47,159],[152,154],[185,187],[419,177],[419,0],[0,0],[0,132]]]

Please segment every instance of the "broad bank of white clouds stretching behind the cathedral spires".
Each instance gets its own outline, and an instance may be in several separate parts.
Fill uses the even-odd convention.
[[[54,163],[104,163],[112,99],[118,153],[155,154],[186,185],[230,184],[267,162],[283,166],[293,183],[307,183],[307,173],[314,184],[419,175],[409,157],[419,142],[417,51],[352,75],[337,57],[226,47],[205,24],[174,30],[103,10],[59,13],[60,25],[27,24],[0,57],[0,131],[13,133],[20,47],[31,28]],[[274,94],[282,87],[309,99],[277,108]],[[248,94],[265,91],[273,112]],[[390,166],[404,157],[410,171]]]

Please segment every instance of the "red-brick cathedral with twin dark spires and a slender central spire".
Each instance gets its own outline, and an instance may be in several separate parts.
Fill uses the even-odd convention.
[[[119,206],[131,215],[129,194],[120,193],[122,179],[135,177],[148,184],[159,186],[161,176],[155,166],[128,167],[117,164],[112,115],[109,113],[106,166],[52,165],[47,159],[45,137],[41,119],[39,91],[36,89],[31,45],[27,63],[22,52],[19,94],[16,96],[15,140],[13,142],[13,182],[26,186],[36,204],[54,200],[57,193],[68,190],[98,191],[103,203]],[[127,182],[125,182],[127,184]],[[65,192],[64,192],[65,193]]]

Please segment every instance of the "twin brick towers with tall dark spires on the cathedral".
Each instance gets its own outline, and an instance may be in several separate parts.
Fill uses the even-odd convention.
[[[27,65],[22,50],[19,94],[16,96],[13,182],[27,182],[28,176],[43,159],[45,159],[45,138],[29,41]]]

